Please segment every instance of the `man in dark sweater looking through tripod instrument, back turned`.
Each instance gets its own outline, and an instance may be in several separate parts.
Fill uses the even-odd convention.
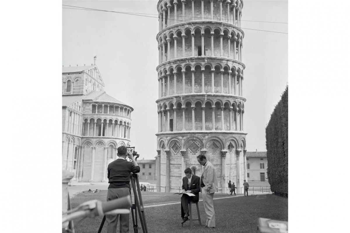
[[[118,147],[118,159],[108,165],[107,178],[108,192],[107,201],[130,195],[130,176],[132,173],[140,172],[134,155],[125,146]],[[126,158],[130,158],[128,162]],[[120,220],[120,233],[129,232],[129,214],[106,215],[107,233],[116,233],[118,218]]]

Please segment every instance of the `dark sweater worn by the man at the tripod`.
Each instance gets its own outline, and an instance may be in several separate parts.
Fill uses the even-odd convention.
[[[107,168],[108,188],[130,188],[130,173],[140,172],[140,167],[125,159],[116,159]]]

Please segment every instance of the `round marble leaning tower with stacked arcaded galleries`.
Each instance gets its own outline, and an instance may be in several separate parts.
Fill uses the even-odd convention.
[[[197,156],[215,166],[218,192],[246,179],[241,27],[243,0],[159,0],[158,191],[181,190]]]

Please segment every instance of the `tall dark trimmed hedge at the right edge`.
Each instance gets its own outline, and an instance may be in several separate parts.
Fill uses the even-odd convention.
[[[266,126],[266,149],[271,191],[288,196],[288,86]]]

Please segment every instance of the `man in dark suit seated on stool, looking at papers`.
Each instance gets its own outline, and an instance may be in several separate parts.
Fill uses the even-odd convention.
[[[189,201],[198,201],[199,200],[199,192],[200,190],[200,181],[201,178],[193,175],[192,174],[192,170],[187,167],[185,169],[185,174],[186,176],[182,178],[182,192],[186,192],[186,193],[193,193],[196,196],[192,196],[189,197],[186,194],[182,194],[181,197],[181,218],[182,221],[181,223],[184,223],[188,220],[188,216],[189,216],[189,210],[188,210],[188,202]]]

